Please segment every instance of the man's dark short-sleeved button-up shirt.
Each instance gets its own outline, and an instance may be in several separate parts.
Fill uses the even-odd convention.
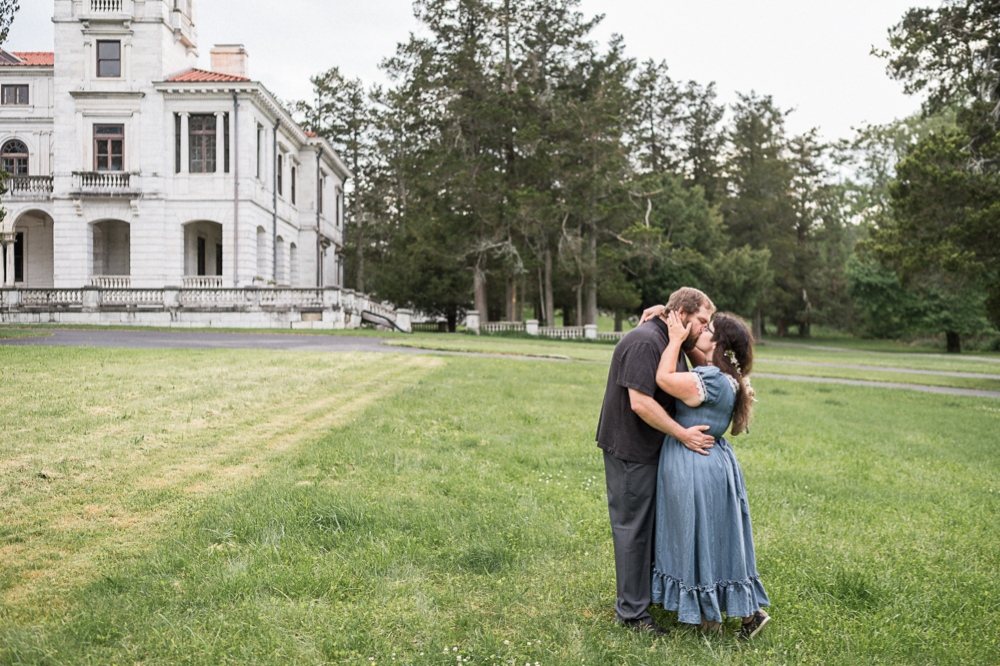
[[[646,465],[655,465],[660,460],[664,434],[632,411],[628,390],[634,388],[651,395],[671,417],[676,414],[674,398],[656,385],[656,368],[669,341],[667,325],[654,317],[629,331],[615,347],[597,424],[597,446],[619,460]],[[687,372],[687,369],[687,360],[681,352],[677,371]]]

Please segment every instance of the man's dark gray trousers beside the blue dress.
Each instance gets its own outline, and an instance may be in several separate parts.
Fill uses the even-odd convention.
[[[608,514],[615,544],[615,578],[621,622],[652,622],[653,521],[657,465],[626,462],[604,453]]]

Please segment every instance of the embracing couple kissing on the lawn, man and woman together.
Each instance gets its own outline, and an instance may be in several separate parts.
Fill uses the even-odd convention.
[[[615,549],[616,621],[666,635],[651,604],[681,623],[740,638],[770,619],[757,574],[743,471],[723,435],[747,430],[753,336],[714,316],[701,291],[674,292],[615,347],[597,426]],[[690,360],[692,368],[688,368]]]

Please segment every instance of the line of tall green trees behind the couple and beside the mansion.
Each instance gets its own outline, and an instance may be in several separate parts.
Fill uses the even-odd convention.
[[[598,45],[578,0],[414,9],[389,86],[334,68],[296,104],[354,172],[348,286],[451,330],[470,309],[620,328],[681,285],[758,335],[957,348],[1000,323],[996,3],[908,12],[876,55],[924,112],[833,143],[768,95],[725,106],[621,37]]]

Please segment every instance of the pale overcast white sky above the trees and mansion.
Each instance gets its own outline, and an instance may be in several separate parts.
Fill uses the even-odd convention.
[[[309,77],[339,66],[348,76],[384,82],[381,60],[419,29],[409,0],[196,0],[199,66],[212,44],[242,43],[250,75],[285,100],[310,97]],[[828,139],[848,137],[863,122],[913,113],[919,100],[902,93],[869,55],[886,45],[886,30],[912,6],[933,0],[583,0],[587,15],[604,14],[595,38],[624,36],[640,61],[666,60],[674,79],[715,81],[731,103],[736,91],[769,94],[794,108],[794,132],[819,127]],[[52,0],[26,0],[5,48],[52,50]]]

